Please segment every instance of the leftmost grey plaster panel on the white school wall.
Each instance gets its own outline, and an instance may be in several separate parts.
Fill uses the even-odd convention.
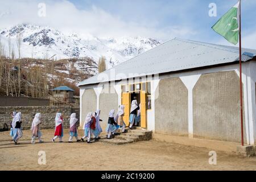
[[[97,109],[97,96],[94,89],[86,89],[80,97],[82,97],[81,126],[83,126],[86,115]]]

